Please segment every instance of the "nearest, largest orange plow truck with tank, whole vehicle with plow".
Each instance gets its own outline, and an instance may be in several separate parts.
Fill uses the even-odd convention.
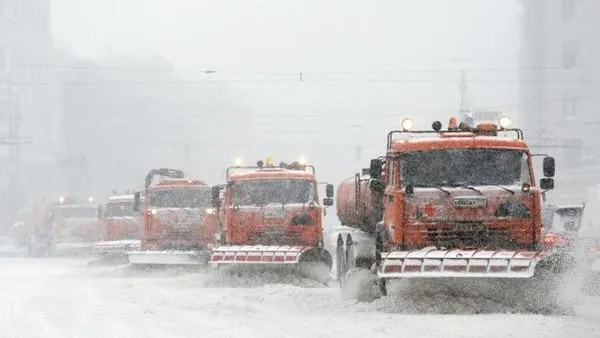
[[[442,283],[505,304],[564,310],[558,291],[569,254],[543,237],[541,219],[554,159],[544,157],[538,186],[534,154],[507,116],[476,127],[457,122],[416,131],[403,120],[402,130],[388,133],[385,156],[338,186],[338,218],[370,234],[363,245],[374,249],[337,237],[343,292],[385,296],[391,281],[417,280],[412,287]]]

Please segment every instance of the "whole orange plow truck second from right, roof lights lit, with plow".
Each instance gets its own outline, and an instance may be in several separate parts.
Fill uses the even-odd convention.
[[[327,185],[323,205],[317,193],[315,169],[304,161],[227,169],[223,205],[220,189],[213,199],[224,218],[221,245],[213,249],[213,267],[274,268],[296,272],[326,283],[332,258],[323,246],[323,208],[333,204]],[[286,268],[287,267],[287,268]]]

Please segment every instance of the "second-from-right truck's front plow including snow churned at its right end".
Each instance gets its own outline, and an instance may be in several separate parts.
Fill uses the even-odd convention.
[[[322,248],[309,246],[227,245],[213,249],[210,264],[238,275],[262,271],[299,274],[326,285],[333,259]]]

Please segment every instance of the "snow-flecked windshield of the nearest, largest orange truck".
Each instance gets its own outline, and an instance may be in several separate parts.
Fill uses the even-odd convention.
[[[403,153],[400,170],[403,186],[531,184],[527,154],[512,149],[466,148]]]

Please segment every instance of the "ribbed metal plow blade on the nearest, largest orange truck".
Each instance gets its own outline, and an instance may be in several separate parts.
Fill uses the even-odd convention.
[[[437,250],[382,254],[379,278],[532,278],[546,253],[536,251]]]

